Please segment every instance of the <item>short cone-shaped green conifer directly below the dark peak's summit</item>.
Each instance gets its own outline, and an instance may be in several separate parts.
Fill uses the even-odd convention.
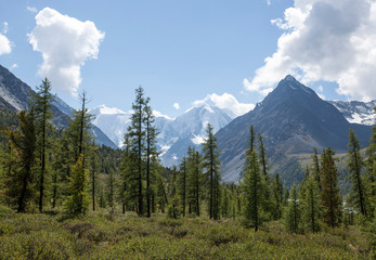
[[[295,183],[291,188],[291,198],[289,199],[287,204],[285,221],[286,221],[285,224],[286,224],[287,231],[291,233],[299,232],[301,212],[300,212],[297,186]]]

